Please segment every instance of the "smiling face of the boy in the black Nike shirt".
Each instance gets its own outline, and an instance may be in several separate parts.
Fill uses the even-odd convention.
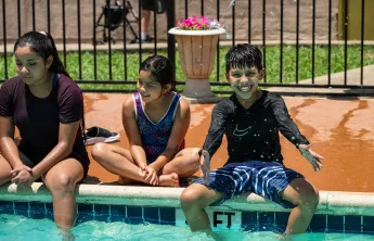
[[[263,78],[265,71],[259,71],[256,66],[245,68],[231,68],[227,73],[231,88],[242,99],[247,100],[257,91],[258,83]]]

